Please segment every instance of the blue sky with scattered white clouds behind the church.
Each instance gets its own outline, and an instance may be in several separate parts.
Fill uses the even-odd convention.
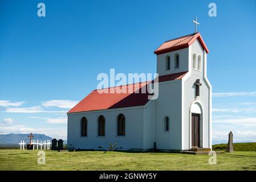
[[[46,5],[46,17],[37,5]],[[217,5],[217,17],[208,5]],[[213,139],[256,142],[255,1],[1,1],[0,134],[66,139],[66,111],[99,73],[155,73],[153,51],[191,34],[210,53]]]

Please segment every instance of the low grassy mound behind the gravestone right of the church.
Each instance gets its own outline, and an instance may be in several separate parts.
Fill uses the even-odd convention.
[[[256,142],[254,143],[234,143],[234,151],[256,151]],[[214,144],[214,151],[225,151],[227,144]]]

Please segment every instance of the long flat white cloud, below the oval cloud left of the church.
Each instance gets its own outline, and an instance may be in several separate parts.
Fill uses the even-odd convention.
[[[50,111],[50,110],[43,110],[42,107],[8,107],[6,108],[7,113],[66,113],[67,111]]]

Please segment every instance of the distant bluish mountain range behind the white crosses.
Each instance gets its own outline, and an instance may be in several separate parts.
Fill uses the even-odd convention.
[[[7,134],[7,135],[0,135],[0,146],[6,145],[18,145],[21,140],[24,140],[25,143],[29,143],[29,136],[30,134]],[[48,137],[44,134],[32,134],[34,135],[34,140],[38,140],[39,142],[44,140],[52,140],[51,137]]]

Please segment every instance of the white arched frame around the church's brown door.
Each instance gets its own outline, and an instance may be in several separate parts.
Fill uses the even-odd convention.
[[[192,106],[197,104],[200,107],[201,113],[192,111]],[[200,101],[194,100],[189,108],[189,148],[192,148],[192,113],[200,114],[200,147],[204,147],[204,109]]]

